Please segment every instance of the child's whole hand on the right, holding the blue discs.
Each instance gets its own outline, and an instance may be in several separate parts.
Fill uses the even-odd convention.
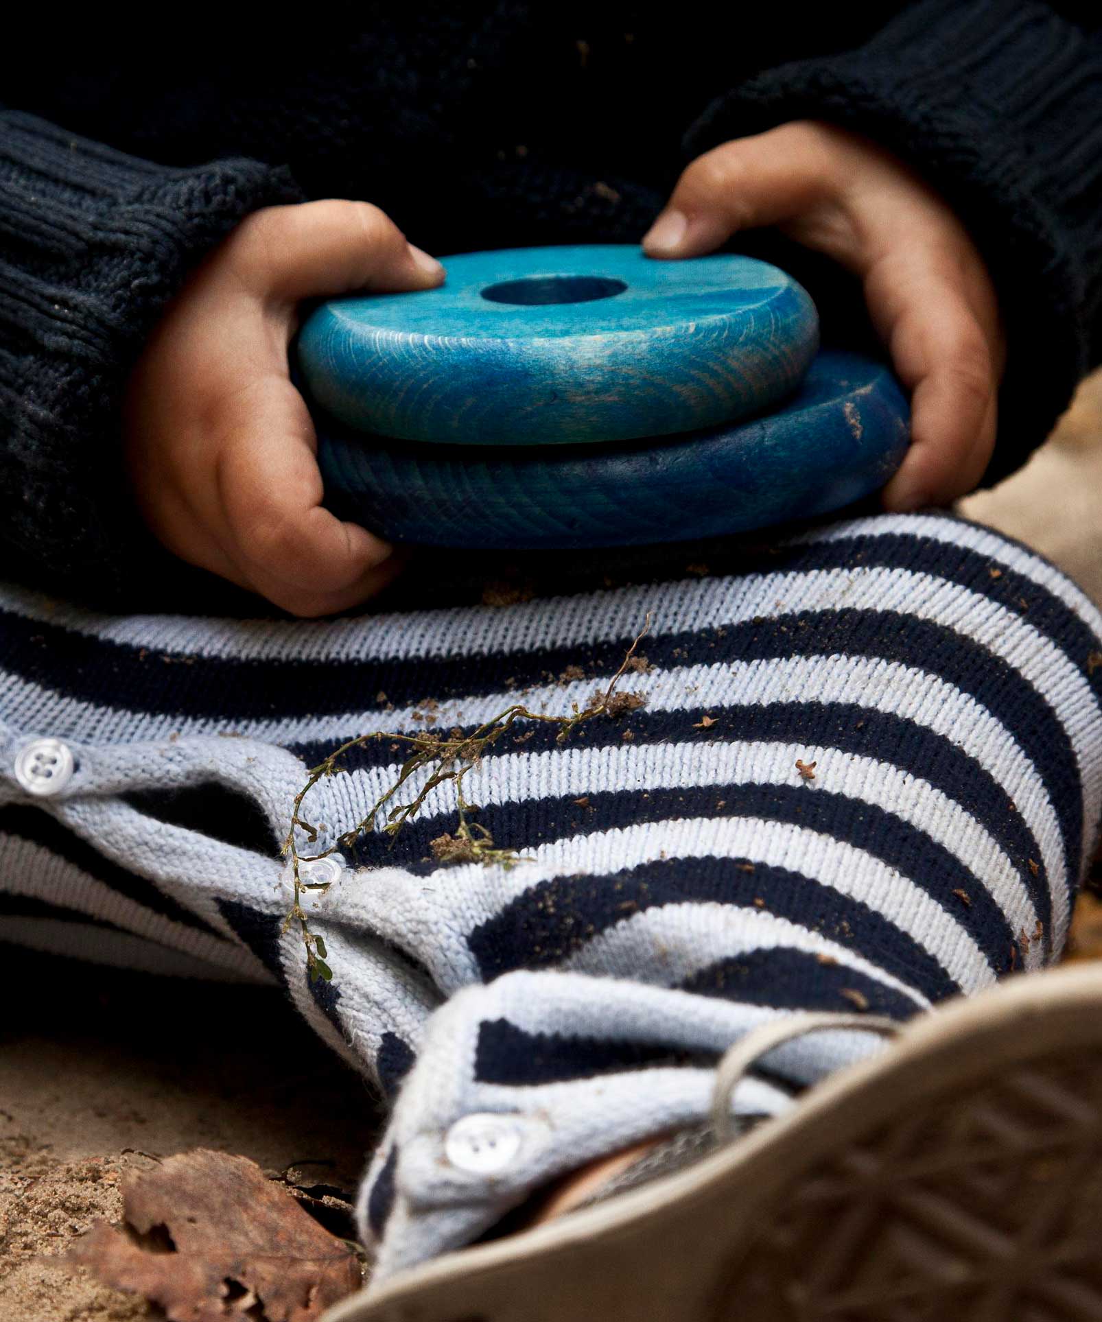
[[[917,509],[971,490],[995,444],[1005,348],[991,279],[954,213],[874,143],[800,122],[699,156],[643,246],[700,256],[762,225],[861,278],[911,391],[913,444],[885,505]]]

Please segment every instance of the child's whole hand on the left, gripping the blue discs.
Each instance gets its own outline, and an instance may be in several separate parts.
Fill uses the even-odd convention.
[[[273,206],[243,221],[169,305],[128,385],[130,479],[160,541],[295,615],[378,591],[394,572],[390,547],[321,508],[287,344],[303,299],[442,279],[366,202]]]

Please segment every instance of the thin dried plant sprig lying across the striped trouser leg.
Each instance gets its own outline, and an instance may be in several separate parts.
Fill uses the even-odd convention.
[[[467,772],[476,767],[486,755],[487,750],[492,748],[493,744],[508,734],[519,720],[538,720],[545,724],[557,724],[561,728],[556,736],[556,742],[565,743],[578,726],[583,724],[586,720],[593,720],[597,717],[603,715],[620,717],[624,715],[626,711],[642,706],[642,698],[632,703],[616,702],[615,699],[618,697],[620,699],[628,697],[627,694],[618,695],[616,685],[623,678],[639,644],[647,633],[650,633],[650,629],[651,613],[648,611],[643,628],[627,649],[627,653],[620,662],[620,668],[609,681],[609,686],[605,691],[601,693],[598,690],[585,707],[579,707],[577,702],[573,702],[570,705],[570,714],[566,717],[552,717],[545,711],[530,711],[523,703],[513,703],[491,720],[483,722],[483,724],[480,724],[471,734],[463,734],[462,731],[454,730],[450,735],[430,731],[415,735],[405,735],[388,734],[386,731],[380,730],[374,734],[357,735],[355,739],[349,739],[339,748],[335,748],[327,758],[318,763],[316,767],[311,768],[306,784],[298,795],[295,795],[295,800],[291,806],[291,825],[287,830],[287,838],[283,842],[283,854],[291,862],[291,875],[294,883],[294,899],[291,910],[283,921],[283,931],[286,932],[292,923],[299,924],[303,945],[306,947],[306,961],[311,981],[323,978],[328,982],[333,974],[332,969],[325,962],[327,952],[324,940],[310,929],[310,919],[302,904],[303,891],[324,891],[328,890],[331,882],[304,880],[300,874],[300,865],[314,863],[318,859],[327,858],[329,854],[335,854],[341,847],[349,849],[355,845],[360,836],[370,834],[370,832],[376,829],[378,814],[385,809],[388,809],[388,812],[386,822],[382,826],[382,830],[393,841],[402,826],[405,826],[405,824],[419,812],[429,795],[431,795],[437,787],[447,783],[451,783],[455,787],[458,821],[452,836],[441,836],[433,841],[431,847],[435,857],[442,858],[446,862],[480,862],[486,865],[497,863],[504,867],[512,867],[516,863],[523,862],[523,857],[515,849],[495,845],[493,837],[484,826],[470,821],[470,814],[475,812],[475,808],[468,804],[463,796],[463,780],[467,776]],[[410,750],[410,755],[402,763],[394,784],[390,785],[385,793],[380,795],[361,821],[356,822],[356,825],[349,830],[337,836],[336,843],[316,854],[300,854],[296,833],[299,830],[303,832],[307,843],[310,845],[316,843],[319,836],[319,828],[303,817],[303,804],[306,802],[307,795],[325,776],[336,776],[340,771],[343,771],[339,763],[345,754],[351,752],[353,748],[360,748],[378,739],[406,744]],[[413,798],[410,798],[409,802],[390,806],[402,787],[406,785],[410,777],[417,775],[417,772],[422,768],[434,769]]]

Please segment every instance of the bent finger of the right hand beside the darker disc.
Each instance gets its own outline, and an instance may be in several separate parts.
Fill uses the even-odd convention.
[[[867,280],[873,321],[911,391],[911,444],[884,492],[893,510],[947,504],[983,476],[995,444],[997,368],[960,283],[921,251]]]

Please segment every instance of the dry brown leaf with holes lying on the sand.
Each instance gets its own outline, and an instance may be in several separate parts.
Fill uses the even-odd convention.
[[[245,1157],[198,1149],[130,1177],[126,1225],[101,1222],[70,1252],[169,1322],[314,1322],[360,1288],[353,1249]]]

